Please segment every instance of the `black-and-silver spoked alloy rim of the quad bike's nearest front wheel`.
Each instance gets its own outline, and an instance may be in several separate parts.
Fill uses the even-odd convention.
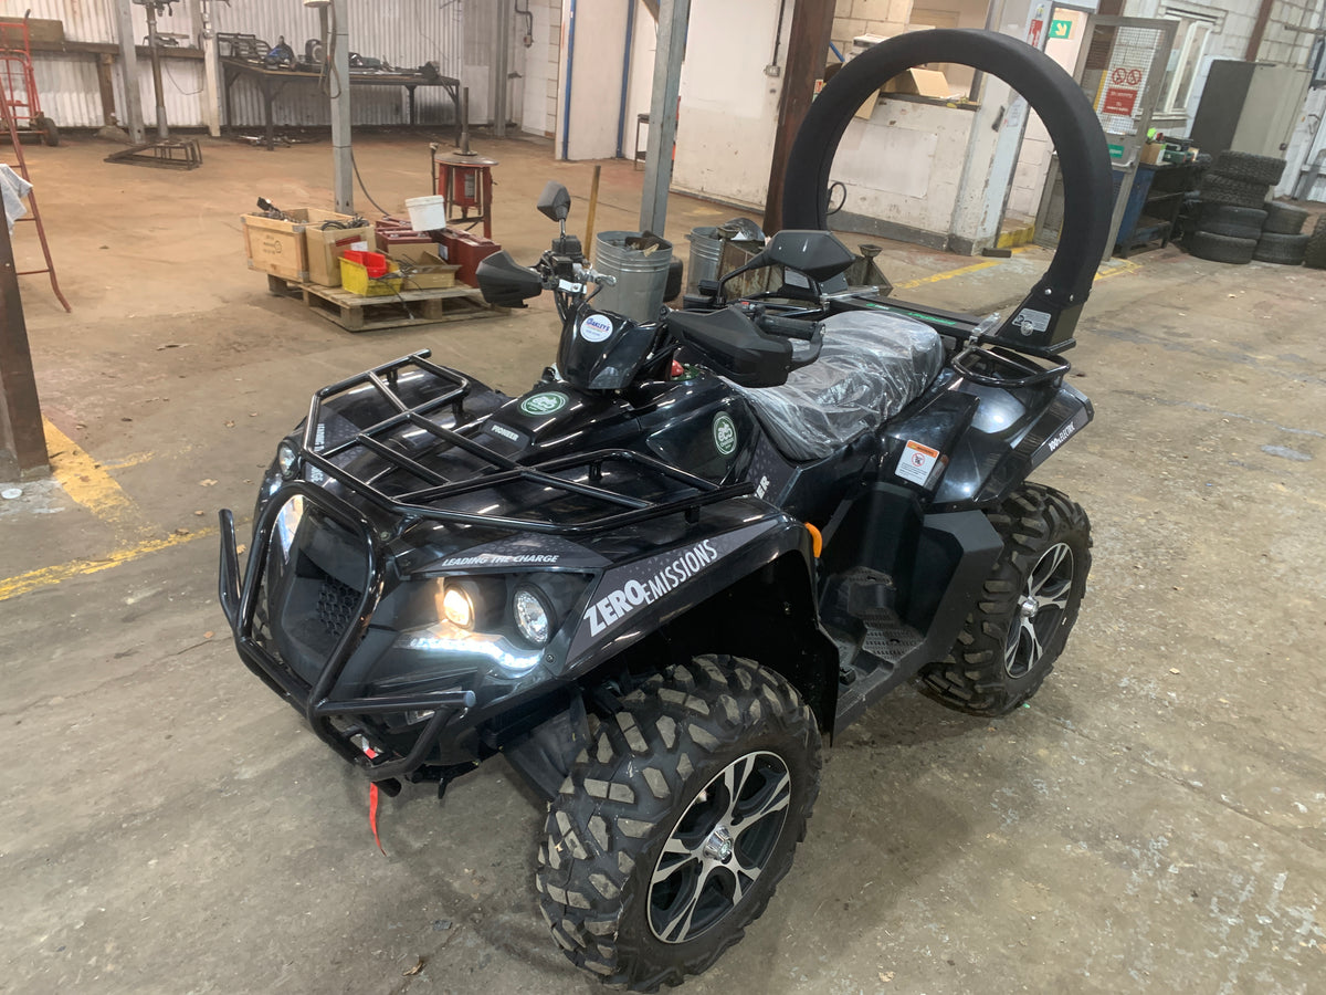
[[[658,939],[692,941],[741,903],[773,856],[790,801],[788,764],[762,750],[733,760],[695,796],[650,878]]]

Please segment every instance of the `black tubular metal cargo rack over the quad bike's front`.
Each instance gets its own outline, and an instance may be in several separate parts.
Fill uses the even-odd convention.
[[[430,362],[428,357],[431,354],[431,350],[420,349],[416,353],[392,360],[382,366],[375,366],[371,370],[355,374],[339,383],[332,383],[317,391],[309,405],[309,417],[305,422],[304,438],[300,443],[298,456],[301,466],[318,470],[326,478],[335,480],[361,498],[395,515],[464,525],[556,535],[603,532],[680,512],[686,512],[693,517],[703,505],[715,504],[731,498],[740,498],[753,491],[749,483],[716,484],[671,467],[652,456],[622,448],[577,452],[529,464],[513,460],[436,421],[435,415],[438,411],[450,409],[453,423],[456,426],[464,423],[467,421],[464,403],[473,385],[464,374]],[[406,403],[396,387],[396,381],[400,373],[408,369],[431,374],[447,385],[447,389],[438,397],[430,398],[423,403],[414,406]],[[339,394],[365,385],[371,385],[382,399],[395,409],[395,414],[366,429],[361,429],[353,438],[345,442],[338,442],[318,451],[317,432],[322,421],[324,405]],[[382,436],[406,425],[420,429],[439,442],[455,446],[483,460],[488,464],[488,470],[481,470],[479,474],[463,480],[448,480],[436,470],[424,466],[410,454],[402,452],[383,442]],[[370,450],[395,468],[414,476],[423,486],[402,494],[386,494],[379,487],[355,476],[334,462],[338,456],[343,456],[346,452],[357,448]],[[662,500],[648,500],[615,494],[605,487],[597,487],[595,482],[602,479],[603,464],[606,463],[627,464],[639,471],[642,476],[652,476],[660,483],[675,484],[675,488]],[[586,470],[589,483],[557,476],[558,472],[574,470]],[[568,495],[589,498],[603,505],[603,513],[587,521],[562,524],[541,519],[448,511],[438,507],[438,503],[444,503],[448,498],[516,483],[537,484],[562,491]]]

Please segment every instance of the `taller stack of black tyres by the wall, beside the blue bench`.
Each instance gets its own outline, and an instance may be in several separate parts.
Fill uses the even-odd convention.
[[[1197,187],[1200,206],[1196,228],[1188,236],[1188,252],[1197,259],[1233,265],[1245,265],[1257,257],[1269,220],[1266,200],[1284,171],[1284,159],[1220,153]],[[1298,224],[1302,227],[1302,220]],[[1274,253],[1281,248],[1272,245],[1269,251]]]

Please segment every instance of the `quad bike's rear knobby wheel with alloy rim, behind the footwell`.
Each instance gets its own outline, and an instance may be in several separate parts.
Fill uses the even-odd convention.
[[[988,516],[1004,552],[948,658],[919,685],[969,715],[1005,715],[1036,694],[1063,651],[1091,569],[1091,524],[1059,491],[1022,484]]]

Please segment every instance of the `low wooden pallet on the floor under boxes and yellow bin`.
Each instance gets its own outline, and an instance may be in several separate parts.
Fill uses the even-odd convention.
[[[267,277],[268,289],[280,297],[300,297],[305,306],[346,332],[375,332],[383,328],[410,328],[440,321],[492,318],[508,313],[495,308],[473,287],[436,291],[400,291],[383,297],[365,297],[339,287],[320,287],[280,276]]]

